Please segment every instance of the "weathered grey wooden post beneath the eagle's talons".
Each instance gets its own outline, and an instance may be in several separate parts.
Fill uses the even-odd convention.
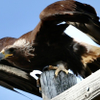
[[[43,100],[50,100],[77,83],[77,78],[73,74],[67,75],[61,71],[55,77],[54,73],[54,70],[50,70],[41,74],[40,83]]]

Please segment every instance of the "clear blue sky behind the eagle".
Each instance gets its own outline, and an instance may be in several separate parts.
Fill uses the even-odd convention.
[[[6,36],[18,38],[22,34],[33,30],[39,22],[40,12],[47,5],[56,1],[57,0],[0,0],[0,38]],[[100,0],[77,1],[92,5],[96,9],[98,16],[100,16]],[[74,36],[79,40],[92,43],[79,32],[72,28],[69,29],[71,36]],[[26,96],[30,97],[32,100],[42,100],[41,98],[31,94],[26,94]],[[8,89],[0,87],[0,100],[29,99]]]

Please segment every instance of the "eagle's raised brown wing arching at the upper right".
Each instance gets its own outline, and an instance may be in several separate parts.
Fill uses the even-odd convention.
[[[52,21],[73,25],[100,44],[100,22],[95,9],[74,0],[55,2],[47,6],[40,14],[42,21]]]

